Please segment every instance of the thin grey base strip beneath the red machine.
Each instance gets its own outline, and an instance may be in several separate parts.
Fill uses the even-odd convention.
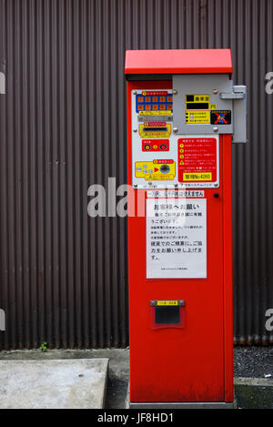
[[[233,409],[233,402],[130,402],[130,409]]]

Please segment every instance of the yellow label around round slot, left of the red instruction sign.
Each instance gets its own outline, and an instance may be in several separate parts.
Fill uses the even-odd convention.
[[[168,167],[167,173],[163,173],[160,168]],[[146,181],[172,181],[176,177],[176,162],[168,163],[157,163],[157,160],[153,161],[140,161],[135,164],[136,178],[145,178]]]

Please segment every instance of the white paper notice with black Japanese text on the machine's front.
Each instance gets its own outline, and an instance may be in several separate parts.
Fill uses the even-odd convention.
[[[207,199],[147,198],[147,279],[207,278]]]

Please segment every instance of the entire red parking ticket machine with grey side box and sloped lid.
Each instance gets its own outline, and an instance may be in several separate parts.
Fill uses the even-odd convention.
[[[228,49],[127,51],[125,73],[130,407],[232,407],[231,144],[246,142],[246,87]]]

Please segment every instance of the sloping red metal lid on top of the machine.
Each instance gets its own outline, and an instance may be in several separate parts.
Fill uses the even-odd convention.
[[[125,73],[232,73],[230,49],[127,50]]]

